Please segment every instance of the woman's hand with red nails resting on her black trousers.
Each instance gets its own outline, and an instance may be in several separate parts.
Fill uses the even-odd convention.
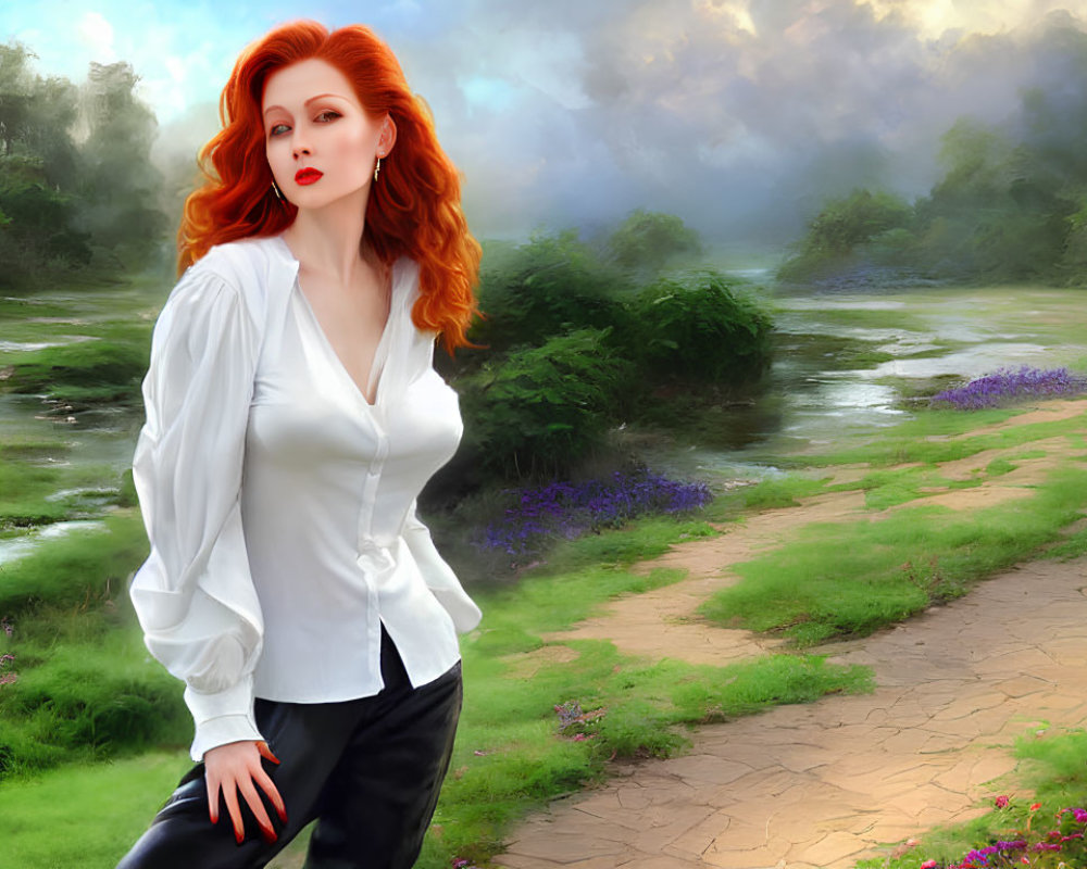
[[[208,782],[208,810],[211,822],[218,822],[218,791],[223,789],[223,801],[226,803],[227,811],[230,813],[230,820],[234,823],[234,837],[240,845],[246,837],[246,828],[241,821],[241,807],[238,804],[238,793],[240,792],[249,808],[252,810],[257,822],[261,827],[261,834],[265,842],[275,842],[276,832],[272,827],[272,821],[264,810],[264,803],[257,793],[257,786],[267,794],[279,813],[279,820],[287,822],[287,807],[279,796],[279,791],[275,783],[261,766],[261,758],[265,757],[273,764],[278,764],[278,758],[272,754],[266,742],[255,742],[243,740],[241,742],[228,742],[226,745],[217,745],[204,752],[204,778]]]

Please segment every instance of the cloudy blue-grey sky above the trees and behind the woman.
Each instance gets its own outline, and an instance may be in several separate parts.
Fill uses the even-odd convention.
[[[300,16],[389,42],[477,235],[640,206],[737,242],[790,238],[858,184],[925,192],[958,117],[1000,123],[1061,80],[1087,0],[36,0],[0,7],[0,40],[75,81],[128,61],[159,153],[185,155],[238,52]]]

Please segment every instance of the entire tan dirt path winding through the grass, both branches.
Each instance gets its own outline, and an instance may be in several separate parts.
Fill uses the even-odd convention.
[[[1085,410],[1083,401],[1053,402],[985,431]],[[941,473],[967,479],[1026,449],[1045,456],[1017,459],[1015,470],[976,488],[926,493],[924,503],[970,509],[1026,496],[1083,454],[1054,438],[949,462]],[[842,481],[850,476],[855,469]],[[683,582],[615,601],[547,639],[604,638],[629,654],[696,663],[764,654],[766,640],[695,614],[735,581],[729,566],[809,522],[877,521],[886,513],[863,512],[859,493],[837,492],[760,514],[645,566],[687,568]],[[1000,790],[1017,736],[1087,720],[1085,585],[1087,561],[1038,562],[907,625],[828,648],[836,662],[873,667],[876,692],[704,727],[685,756],[620,768],[604,788],[530,818],[496,861],[514,869],[845,869],[886,853],[880,845],[965,820]]]

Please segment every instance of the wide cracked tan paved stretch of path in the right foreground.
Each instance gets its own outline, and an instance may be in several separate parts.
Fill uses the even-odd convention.
[[[515,869],[835,869],[980,814],[1023,734],[1087,720],[1087,562],[1042,562],[832,659],[874,694],[701,728],[671,760],[554,804],[497,859]]]

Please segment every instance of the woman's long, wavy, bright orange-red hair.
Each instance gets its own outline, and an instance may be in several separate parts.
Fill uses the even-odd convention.
[[[409,89],[391,49],[363,25],[329,33],[313,21],[292,22],[238,58],[220,98],[223,129],[198,158],[203,185],[185,201],[178,274],[213,244],[274,236],[293,223],[298,209],[272,190],[261,103],[272,73],[311,58],[343,73],[371,115],[388,113],[396,123],[391,159],[371,188],[364,235],[382,262],[408,255],[418,263],[415,325],[441,332],[450,351],[468,344],[482,250],[461,209],[460,176],[438,144],[429,106]]]

